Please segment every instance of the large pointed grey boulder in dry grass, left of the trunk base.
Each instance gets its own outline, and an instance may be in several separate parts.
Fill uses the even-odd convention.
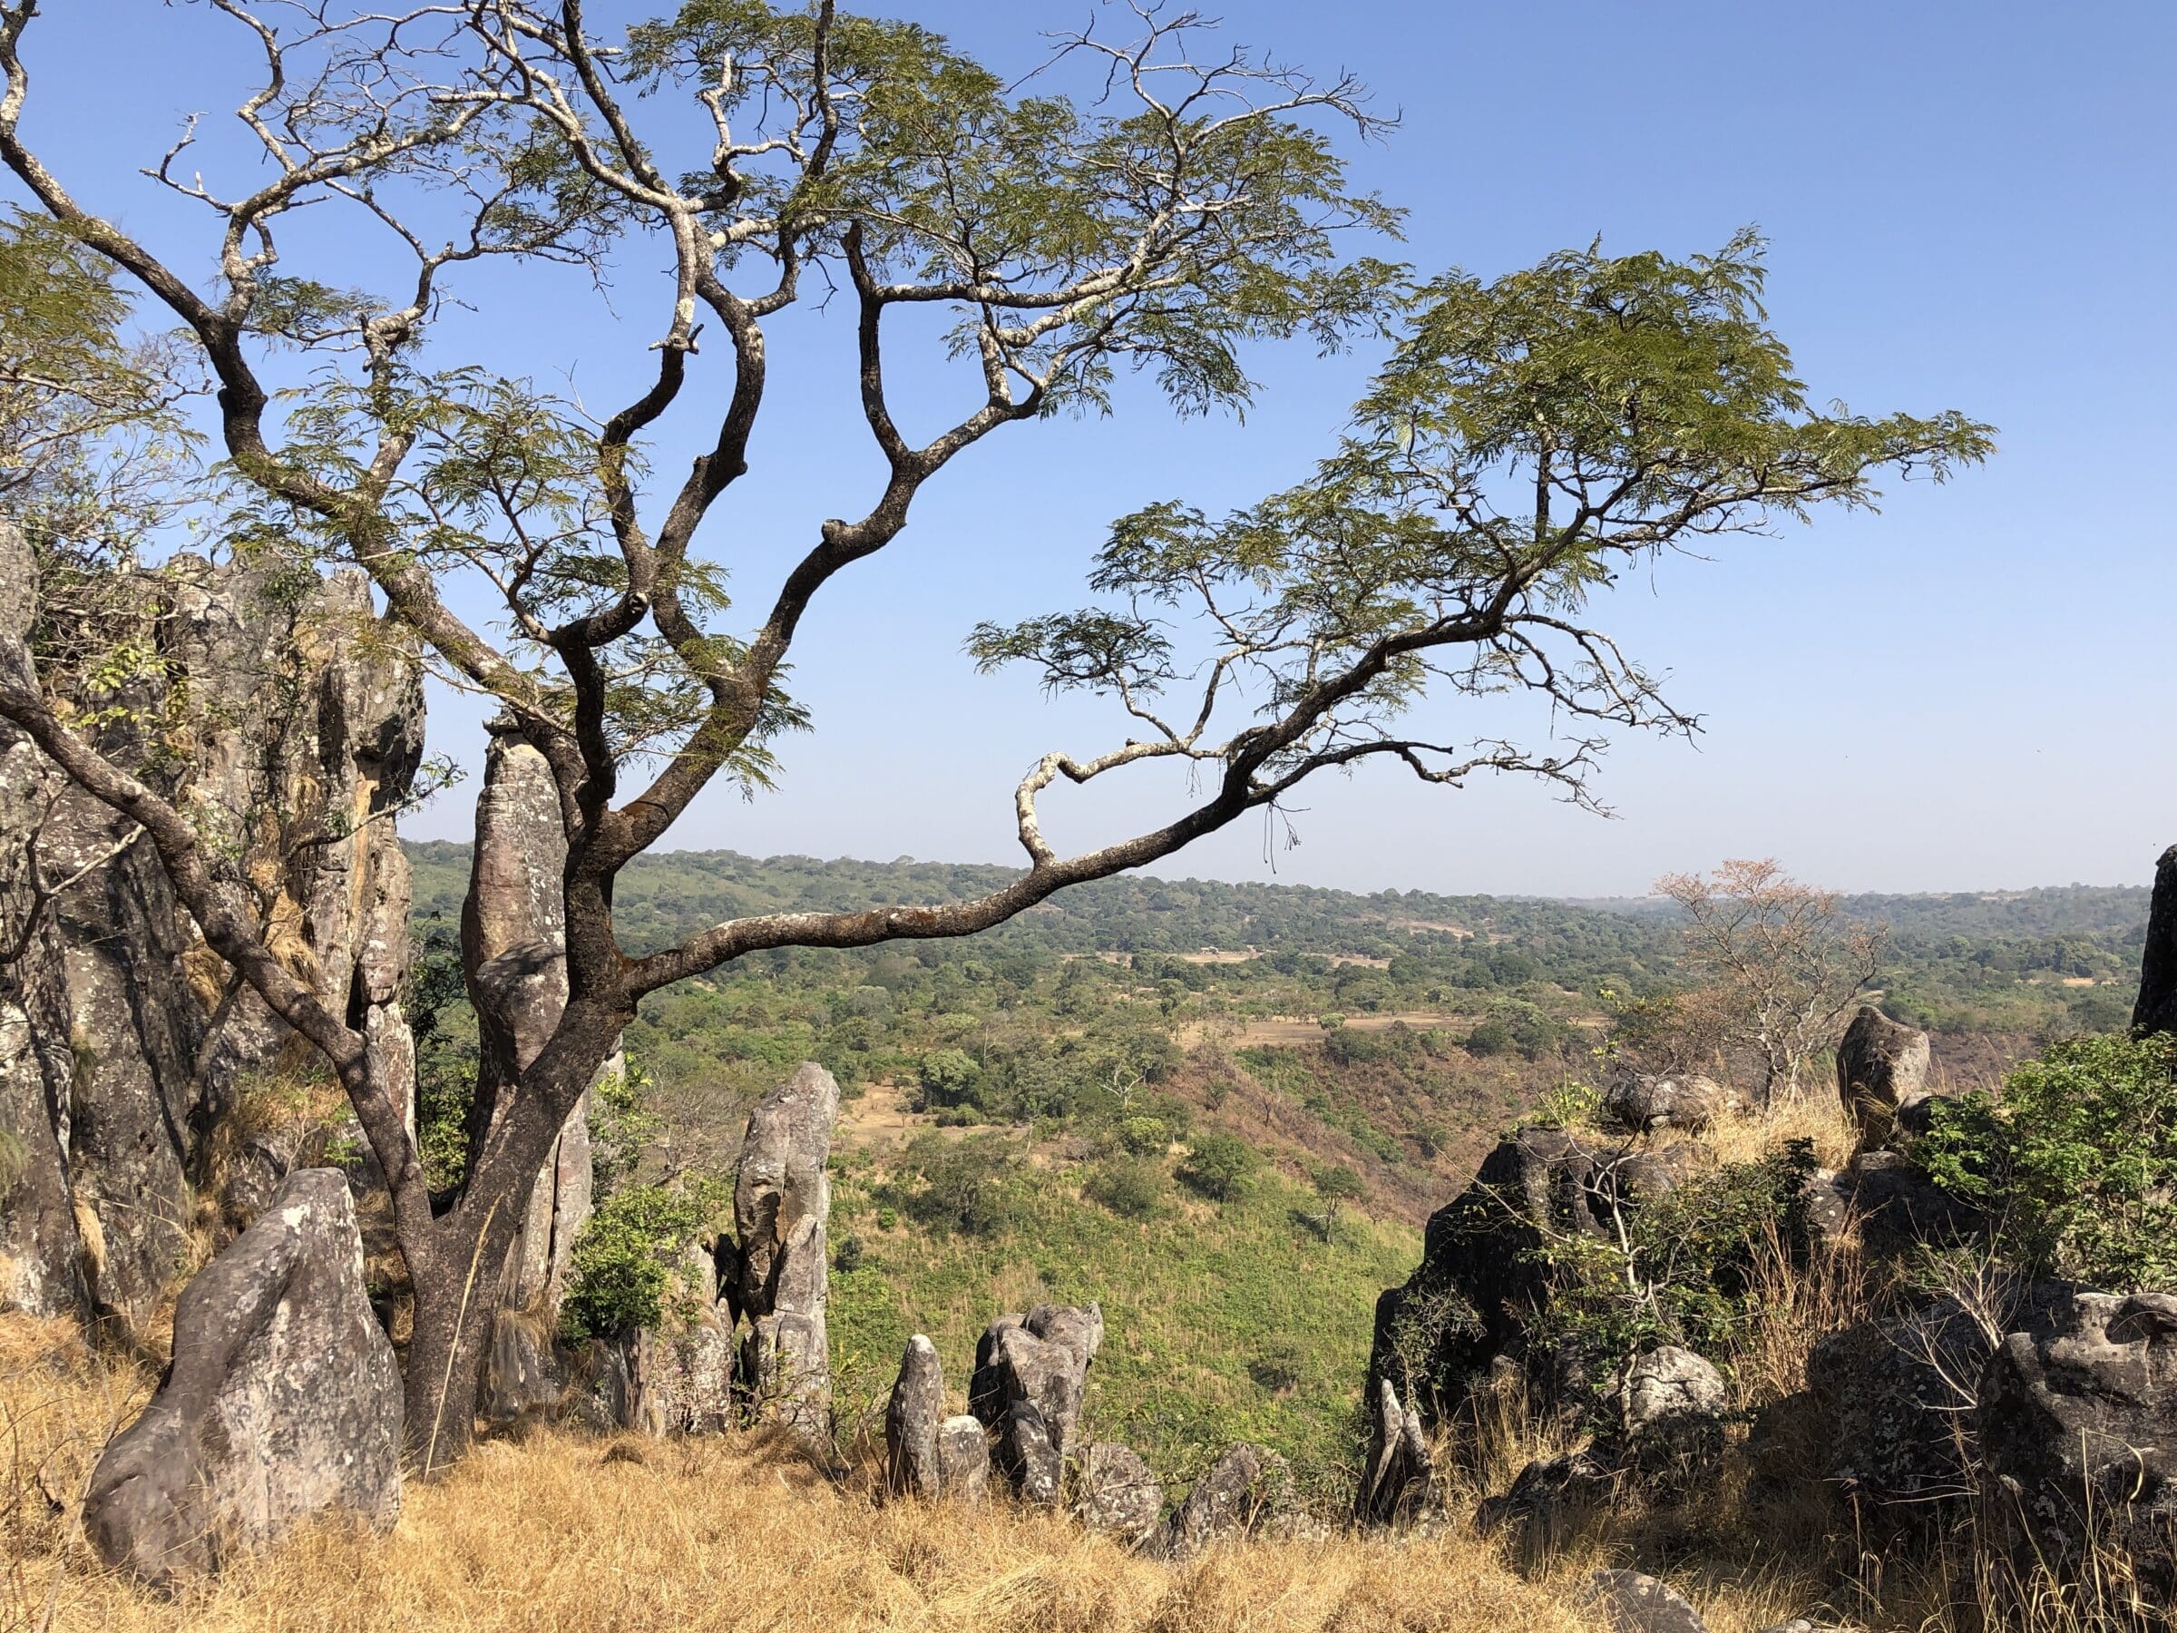
[[[174,1363],[98,1459],[83,1526],[109,1566],[168,1585],[318,1513],[392,1526],[398,1454],[348,1182],[303,1169],[183,1291]]]

